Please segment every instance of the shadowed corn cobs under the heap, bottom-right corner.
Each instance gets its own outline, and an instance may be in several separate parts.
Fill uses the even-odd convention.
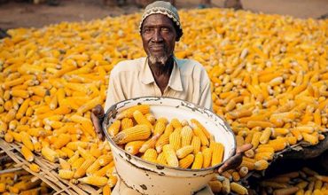
[[[257,183],[262,194],[296,194],[324,195],[328,194],[328,176],[319,175],[310,168],[285,173]]]

